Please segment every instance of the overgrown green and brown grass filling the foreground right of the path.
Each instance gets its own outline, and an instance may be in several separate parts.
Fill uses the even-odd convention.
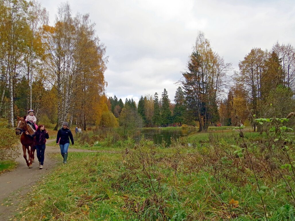
[[[109,138],[101,148],[122,154],[71,153],[67,165],[36,185],[17,219],[292,220],[294,182],[270,161],[266,138],[196,133],[169,148]]]

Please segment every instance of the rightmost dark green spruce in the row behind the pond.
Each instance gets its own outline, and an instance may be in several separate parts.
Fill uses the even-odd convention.
[[[173,112],[173,121],[175,123],[180,123],[181,125],[184,119],[183,114],[186,109],[184,93],[181,87],[178,87],[176,90],[174,102],[175,102],[175,108]]]

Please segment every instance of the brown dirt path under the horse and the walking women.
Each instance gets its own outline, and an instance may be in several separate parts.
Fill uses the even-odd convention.
[[[53,141],[49,139],[47,142]],[[23,157],[22,146],[19,145],[20,155],[16,159],[19,163],[17,169],[0,175],[0,221],[9,220],[12,214],[17,210],[17,205],[21,203],[27,193],[39,179],[54,170],[56,164],[62,163],[60,160],[50,159],[46,153],[60,153],[58,146],[47,146],[45,149],[45,160],[43,169],[39,169],[38,159],[35,153],[35,163],[33,168],[29,169]],[[68,149],[68,152],[95,152],[91,150]],[[14,220],[14,219],[12,219]]]

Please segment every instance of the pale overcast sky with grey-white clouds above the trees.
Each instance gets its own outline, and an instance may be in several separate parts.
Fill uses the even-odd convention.
[[[61,2],[41,0],[50,24]],[[213,50],[238,63],[253,47],[271,50],[272,45],[295,46],[294,0],[69,0],[73,16],[90,14],[96,34],[109,57],[106,94],[133,98],[161,96],[164,88],[173,102],[175,83],[198,32],[204,32]]]

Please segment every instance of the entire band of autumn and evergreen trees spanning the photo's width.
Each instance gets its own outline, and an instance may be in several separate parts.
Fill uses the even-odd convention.
[[[259,130],[255,117],[285,116],[294,110],[294,46],[276,42],[269,51],[253,48],[229,76],[232,64],[213,50],[202,32],[173,101],[166,89],[161,95],[142,95],[138,104],[108,98],[108,57],[94,26],[89,14],[73,16],[68,3],[60,4],[50,26],[46,9],[37,1],[0,0],[0,116],[10,126],[16,116],[34,109],[38,120],[55,129],[63,121],[84,130],[91,125],[117,127],[123,115],[132,115],[142,126],[185,123],[206,131],[212,123],[243,123]]]

